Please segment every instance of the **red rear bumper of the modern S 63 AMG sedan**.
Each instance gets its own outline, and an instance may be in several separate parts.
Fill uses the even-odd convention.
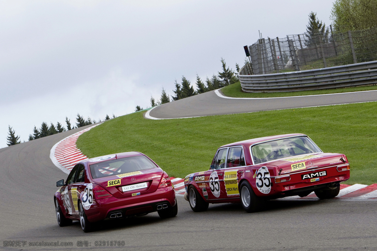
[[[128,198],[97,199],[92,206],[85,210],[90,222],[107,218],[124,218],[130,215],[151,213],[158,210],[159,205],[172,207],[175,205],[175,191],[173,187],[159,188],[153,193],[137,195]],[[110,217],[115,214],[116,217]],[[121,215],[120,215],[121,214]]]

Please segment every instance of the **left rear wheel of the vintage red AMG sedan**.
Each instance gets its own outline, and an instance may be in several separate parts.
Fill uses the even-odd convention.
[[[247,181],[242,181],[240,189],[241,205],[247,213],[253,213],[261,210],[262,201],[258,198],[250,184]]]

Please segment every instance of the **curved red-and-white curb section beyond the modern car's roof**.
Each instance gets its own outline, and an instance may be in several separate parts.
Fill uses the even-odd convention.
[[[50,150],[50,158],[52,163],[65,173],[69,173],[75,164],[80,160],[85,160],[87,157],[76,146],[78,137],[84,132],[101,125],[90,126],[80,132],[76,132],[56,143]]]

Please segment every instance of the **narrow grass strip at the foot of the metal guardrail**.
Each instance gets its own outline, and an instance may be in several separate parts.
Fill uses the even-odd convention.
[[[305,95],[345,93],[345,92],[352,92],[352,91],[369,91],[369,90],[377,90],[377,85],[347,87],[347,88],[329,89],[329,90],[292,91],[292,92],[275,92],[275,93],[245,93],[241,90],[240,82],[221,88],[221,92],[225,96],[228,96],[228,97],[288,97],[288,96],[305,96]]]

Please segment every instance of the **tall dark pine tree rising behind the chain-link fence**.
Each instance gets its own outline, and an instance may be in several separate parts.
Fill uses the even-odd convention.
[[[328,43],[329,29],[325,31],[325,23],[317,19],[317,13],[313,11],[309,14],[309,24],[307,25],[307,40],[305,40],[306,46],[313,46],[322,40],[323,43]]]

